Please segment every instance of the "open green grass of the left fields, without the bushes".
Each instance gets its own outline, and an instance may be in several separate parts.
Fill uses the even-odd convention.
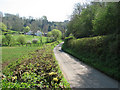
[[[20,36],[20,35],[12,35],[13,38],[15,39],[15,42],[17,40],[17,38]],[[38,39],[38,43],[40,43],[40,37],[39,36],[32,36],[32,35],[24,35],[25,36],[25,39],[26,39],[26,42],[27,41],[31,41],[32,42],[32,39],[36,38]],[[3,37],[2,35],[0,35],[0,38]],[[42,41],[43,43],[46,43],[46,38],[47,37],[42,37]],[[38,44],[34,44],[34,45],[29,45],[29,46],[17,46],[17,45],[14,45],[14,46],[3,46],[3,47],[0,47],[0,50],[2,49],[2,63],[9,63],[9,62],[12,62],[14,60],[17,60],[18,58],[22,57],[23,55],[27,55],[29,52],[31,51],[35,51],[38,47],[40,47],[40,45]]]

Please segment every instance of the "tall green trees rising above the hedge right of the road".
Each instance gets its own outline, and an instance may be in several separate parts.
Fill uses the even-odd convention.
[[[66,35],[76,38],[120,34],[120,2],[76,4]]]

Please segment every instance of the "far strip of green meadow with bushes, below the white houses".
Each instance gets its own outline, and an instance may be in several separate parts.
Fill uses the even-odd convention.
[[[37,43],[41,43],[40,42],[41,38],[42,38],[42,43],[46,43],[47,41],[47,37],[44,36],[41,37],[41,36],[22,35],[22,34],[8,34],[8,36],[6,37],[5,35],[0,35],[0,38],[2,38],[2,46],[16,46],[20,44],[18,42],[18,38],[21,37],[24,39],[24,45],[27,42],[32,43],[33,39],[37,39]],[[7,45],[6,41],[10,41],[10,45]]]

